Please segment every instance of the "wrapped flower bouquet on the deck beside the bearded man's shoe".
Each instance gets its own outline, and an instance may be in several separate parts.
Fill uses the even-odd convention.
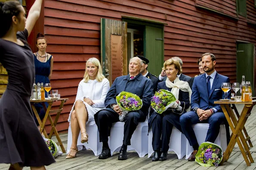
[[[204,167],[218,167],[222,157],[222,148],[219,145],[204,142],[199,146],[195,161]]]

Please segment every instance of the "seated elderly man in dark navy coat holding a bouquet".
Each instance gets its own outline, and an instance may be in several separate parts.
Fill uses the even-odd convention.
[[[108,147],[108,134],[112,123],[119,121],[119,115],[122,113],[116,102],[116,96],[122,92],[131,92],[138,95],[142,99],[143,106],[140,110],[130,111],[124,117],[124,136],[123,146],[120,149],[118,160],[127,159],[127,146],[130,145],[130,140],[136,126],[139,122],[144,122],[148,115],[151,97],[153,96],[153,84],[150,79],[145,78],[140,73],[142,68],[142,60],[138,57],[133,57],[129,63],[129,74],[120,76],[115,79],[105,99],[106,109],[100,110],[94,115],[95,122],[99,130],[99,140],[102,142],[102,153],[99,159],[106,159],[111,156]]]

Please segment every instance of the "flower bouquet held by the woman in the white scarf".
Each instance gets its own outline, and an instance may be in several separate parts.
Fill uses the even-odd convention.
[[[169,107],[176,103],[176,97],[172,92],[160,89],[151,98],[151,107],[159,114],[162,114]]]

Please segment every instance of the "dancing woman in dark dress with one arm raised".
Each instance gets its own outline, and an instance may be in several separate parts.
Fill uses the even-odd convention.
[[[0,3],[0,63],[8,72],[6,91],[0,99],[0,163],[9,170],[45,170],[55,162],[37,125],[30,105],[35,77],[34,57],[27,38],[39,18],[42,0],[35,0],[25,18],[18,1]]]

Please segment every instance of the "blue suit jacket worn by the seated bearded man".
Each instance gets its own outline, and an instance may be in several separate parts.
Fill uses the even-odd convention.
[[[221,89],[221,84],[224,82],[229,83],[229,78],[216,72],[209,97],[205,74],[194,78],[191,95],[191,110],[195,107],[203,110],[214,107],[218,112],[222,112],[220,105],[214,104],[214,101],[224,98],[224,92]],[[228,98],[231,98],[231,90],[228,92]]]

